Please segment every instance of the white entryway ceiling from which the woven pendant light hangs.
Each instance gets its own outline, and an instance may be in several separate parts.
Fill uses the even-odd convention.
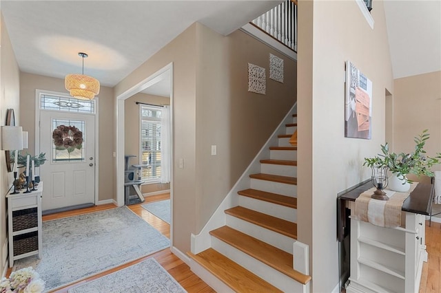
[[[237,30],[281,1],[1,1],[23,72],[81,73],[113,87],[198,21]]]

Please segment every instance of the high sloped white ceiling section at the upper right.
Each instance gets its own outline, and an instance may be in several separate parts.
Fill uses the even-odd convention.
[[[441,1],[387,0],[384,12],[393,78],[440,71]]]

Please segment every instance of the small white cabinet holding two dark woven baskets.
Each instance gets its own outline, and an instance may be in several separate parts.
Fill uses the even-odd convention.
[[[41,196],[43,182],[37,191],[8,194],[9,266],[14,260],[38,254],[41,258]]]

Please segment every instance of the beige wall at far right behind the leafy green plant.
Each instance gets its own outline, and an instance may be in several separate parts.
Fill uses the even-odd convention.
[[[393,94],[393,151],[415,149],[413,138],[429,129],[427,155],[441,152],[441,71],[398,78]],[[441,170],[441,165],[433,171]]]

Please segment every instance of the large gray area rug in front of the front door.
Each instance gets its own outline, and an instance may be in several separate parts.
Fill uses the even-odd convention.
[[[14,262],[32,265],[53,290],[145,257],[170,246],[170,240],[129,208],[43,221],[43,257]]]

